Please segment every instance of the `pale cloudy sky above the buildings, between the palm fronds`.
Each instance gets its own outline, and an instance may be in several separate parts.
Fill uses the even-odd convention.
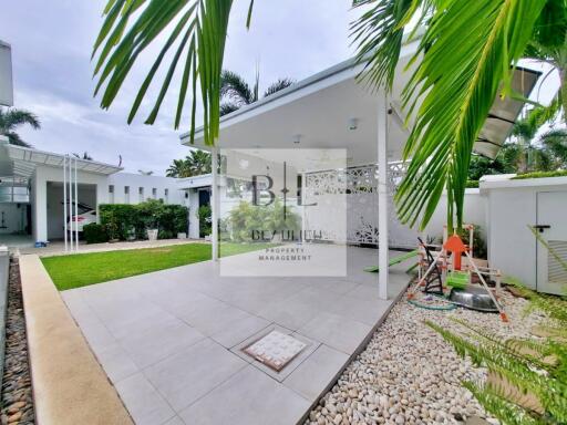
[[[126,170],[163,175],[173,158],[186,155],[181,131],[173,129],[175,90],[154,126],[144,114],[126,124],[128,106],[153,63],[150,55],[134,70],[110,111],[93,99],[91,50],[101,25],[104,0],[2,1],[0,40],[12,45],[16,106],[39,115],[42,129],[21,129],[38,149],[89,152],[94,159]],[[278,77],[300,80],[352,54],[348,27],[351,0],[257,1],[250,31],[245,29],[247,0],[235,2],[225,68],[260,85]],[[175,89],[173,86],[172,89]],[[147,113],[148,105],[144,112]]]

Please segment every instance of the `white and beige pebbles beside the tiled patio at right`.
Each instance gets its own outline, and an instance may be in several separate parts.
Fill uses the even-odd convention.
[[[537,313],[524,317],[527,301],[507,291],[503,304],[509,324],[497,314],[425,310],[402,298],[306,424],[463,424],[474,416],[497,424],[461,386],[463,380],[484,380],[486,370],[460,359],[423,321],[455,328],[449,318],[456,317],[511,338],[528,335],[542,319]]]

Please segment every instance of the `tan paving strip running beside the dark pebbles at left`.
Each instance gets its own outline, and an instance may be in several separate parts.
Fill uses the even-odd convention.
[[[20,274],[37,424],[133,424],[40,258]]]

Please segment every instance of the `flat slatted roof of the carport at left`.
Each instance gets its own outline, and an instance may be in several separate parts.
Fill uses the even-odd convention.
[[[29,178],[38,165],[63,167],[65,155],[32,149],[22,146],[0,144],[0,176],[14,176]],[[122,170],[121,167],[76,158],[76,168],[80,172],[111,175]]]

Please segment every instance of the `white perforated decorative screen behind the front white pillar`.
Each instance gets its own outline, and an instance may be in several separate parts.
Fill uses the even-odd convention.
[[[417,232],[402,225],[395,215],[393,196],[408,169],[408,163],[389,164],[389,246],[413,248]],[[347,240],[352,245],[378,245],[378,167],[365,165],[339,170],[307,173],[305,204],[323,204],[329,195],[347,194]],[[305,208],[305,229],[332,228],[333,216],[320,214],[317,208]],[[338,211],[339,212],[339,211]],[[341,240],[329,240],[342,242]]]

